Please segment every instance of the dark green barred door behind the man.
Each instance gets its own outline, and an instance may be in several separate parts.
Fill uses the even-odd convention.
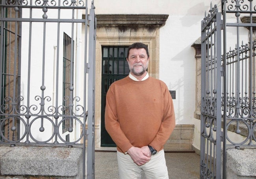
[[[128,46],[102,46],[101,81],[101,146],[115,147],[105,128],[106,94],[114,81],[126,77],[130,70],[126,61]]]

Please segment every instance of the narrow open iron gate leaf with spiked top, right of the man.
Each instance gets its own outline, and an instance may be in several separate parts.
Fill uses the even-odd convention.
[[[221,13],[217,6],[202,21],[200,178],[220,178]]]

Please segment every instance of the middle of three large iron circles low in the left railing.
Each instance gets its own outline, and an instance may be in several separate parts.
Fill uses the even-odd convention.
[[[49,139],[45,140],[45,141],[36,140],[36,139],[33,137],[32,133],[31,133],[32,124],[35,122],[35,120],[38,120],[38,119],[39,119],[39,120],[46,119],[46,120],[50,121],[50,123],[52,124],[52,129],[53,129],[52,136],[51,136]],[[40,131],[40,132],[43,132],[43,131],[44,131],[44,130],[42,130],[42,127],[43,127],[43,126],[39,127],[39,131]],[[37,116],[36,118],[34,118],[34,119],[30,122],[30,124],[29,124],[29,126],[28,126],[28,130],[29,130],[29,136],[32,138],[32,140],[35,141],[35,142],[37,142],[37,143],[39,143],[39,144],[44,144],[44,143],[49,142],[50,140],[52,140],[52,138],[54,137],[54,135],[55,135],[55,133],[56,133],[56,129],[55,129],[55,124],[54,124],[54,122],[53,122],[50,118],[48,118],[47,116]]]

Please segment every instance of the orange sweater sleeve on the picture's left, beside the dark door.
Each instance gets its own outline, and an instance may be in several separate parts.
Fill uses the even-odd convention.
[[[114,90],[113,85],[111,85],[106,96],[105,127],[115,144],[125,153],[132,147],[132,144],[120,127]]]

